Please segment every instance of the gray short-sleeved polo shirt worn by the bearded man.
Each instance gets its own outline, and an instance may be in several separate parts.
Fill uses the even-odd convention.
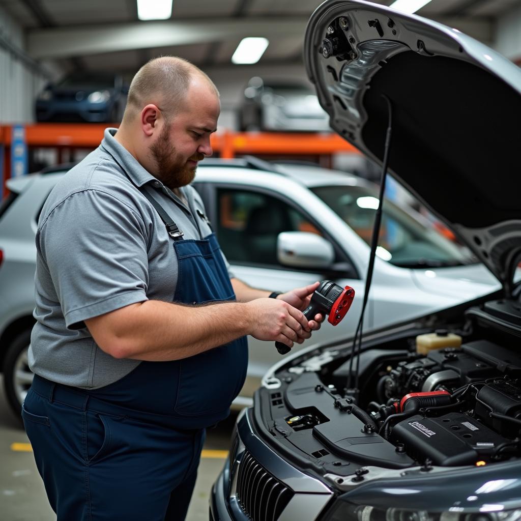
[[[58,181],[36,232],[29,366],[44,378],[85,389],[115,382],[140,362],[102,351],[84,320],[148,299],[172,302],[176,291],[172,239],[130,179],[163,206],[184,239],[212,232],[197,215],[198,209],[205,214],[199,194],[184,187],[188,205],[183,204],[114,139],[115,133],[105,130],[101,145]]]

